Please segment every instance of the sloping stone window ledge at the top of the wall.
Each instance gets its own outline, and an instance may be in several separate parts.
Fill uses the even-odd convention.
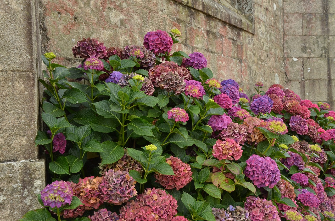
[[[173,0],[205,14],[213,16],[225,23],[255,34],[255,22],[250,22],[245,16],[212,0]],[[254,19],[253,19],[254,20]]]

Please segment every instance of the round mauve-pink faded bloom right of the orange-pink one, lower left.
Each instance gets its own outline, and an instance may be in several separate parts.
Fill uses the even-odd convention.
[[[136,181],[124,171],[108,170],[99,185],[105,202],[121,205],[136,196]]]

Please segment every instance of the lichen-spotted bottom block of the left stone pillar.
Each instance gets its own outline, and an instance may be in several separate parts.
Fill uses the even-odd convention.
[[[16,220],[41,208],[36,194],[45,187],[44,161],[0,163],[0,221]]]

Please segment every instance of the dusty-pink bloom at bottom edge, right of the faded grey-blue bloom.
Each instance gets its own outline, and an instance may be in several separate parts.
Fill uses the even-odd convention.
[[[251,221],[280,221],[277,208],[271,200],[248,196],[244,207],[248,210]]]

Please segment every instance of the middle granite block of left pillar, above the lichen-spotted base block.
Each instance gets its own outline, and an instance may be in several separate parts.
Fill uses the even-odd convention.
[[[37,159],[38,90],[35,73],[0,72],[0,162]]]

